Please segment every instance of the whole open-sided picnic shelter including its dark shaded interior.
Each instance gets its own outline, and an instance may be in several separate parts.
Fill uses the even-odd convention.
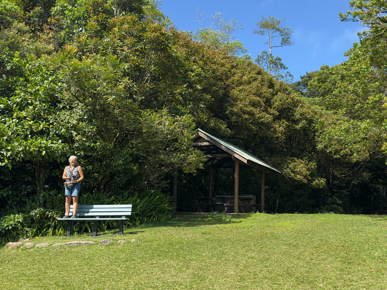
[[[193,137],[193,146],[204,153],[207,161],[196,175],[175,176],[175,212],[265,210],[265,174],[280,174],[279,170],[201,129]]]

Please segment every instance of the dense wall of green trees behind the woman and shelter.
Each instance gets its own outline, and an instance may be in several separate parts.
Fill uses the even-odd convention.
[[[84,168],[83,192],[106,200],[168,195],[174,174],[182,191],[204,183],[197,127],[283,172],[267,176],[268,211],[383,209],[385,33],[371,15],[385,7],[351,5],[343,19],[370,30],[346,62],[291,87],[227,41],[214,47],[169,27],[146,0],[3,1],[0,209],[61,207],[70,155]],[[257,175],[241,180],[246,193],[257,193]],[[227,169],[217,178],[233,188]]]

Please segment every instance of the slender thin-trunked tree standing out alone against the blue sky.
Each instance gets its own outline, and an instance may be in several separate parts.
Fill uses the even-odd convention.
[[[282,58],[274,56],[273,48],[293,45],[294,43],[290,40],[293,30],[285,27],[285,20],[279,20],[273,16],[263,17],[256,26],[259,29],[254,30],[254,33],[268,39],[265,43],[269,45],[269,51],[263,50],[255,61],[276,79],[291,82],[293,75],[287,71],[288,67],[282,62]],[[278,42],[278,39],[281,42]]]

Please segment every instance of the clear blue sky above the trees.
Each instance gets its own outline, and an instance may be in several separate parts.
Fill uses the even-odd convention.
[[[163,14],[183,31],[201,27],[197,9],[206,17],[220,12],[229,20],[237,20],[243,30],[233,36],[252,59],[269,50],[266,38],[253,33],[256,23],[269,16],[285,19],[293,30],[294,45],[274,48],[273,53],[282,58],[294,81],[321,65],[343,62],[347,58],[344,53],[358,41],[357,32],[362,29],[359,23],[340,21],[338,14],[350,10],[349,0],[162,0],[160,4]]]

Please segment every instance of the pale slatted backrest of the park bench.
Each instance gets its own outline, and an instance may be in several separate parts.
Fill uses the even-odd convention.
[[[73,214],[73,205],[70,205],[70,215]],[[77,216],[102,216],[102,215],[131,215],[132,204],[80,204]]]

